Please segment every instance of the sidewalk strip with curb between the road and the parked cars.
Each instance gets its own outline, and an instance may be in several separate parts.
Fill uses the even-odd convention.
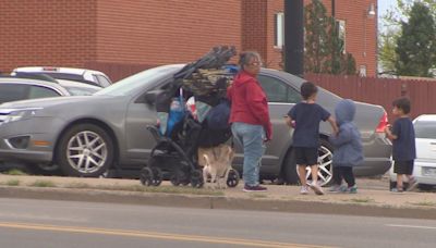
[[[168,182],[144,187],[134,179],[55,176],[0,175],[0,197],[436,219],[436,194],[395,194],[387,185],[384,190],[371,186],[371,181],[363,181],[363,188],[355,195],[324,196],[301,196],[296,186],[268,185],[268,193],[247,194],[242,191],[241,183],[235,188],[213,190],[173,187]]]

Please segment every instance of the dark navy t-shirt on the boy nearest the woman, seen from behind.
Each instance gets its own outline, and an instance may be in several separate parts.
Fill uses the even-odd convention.
[[[319,123],[327,121],[330,113],[316,103],[300,102],[289,111],[288,115],[295,121],[293,146],[318,148]]]

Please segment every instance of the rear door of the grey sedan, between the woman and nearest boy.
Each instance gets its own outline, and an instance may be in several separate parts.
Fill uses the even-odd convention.
[[[283,150],[291,139],[290,129],[284,124],[283,116],[296,102],[301,101],[301,96],[291,84],[274,75],[261,74],[257,79],[267,95],[269,116],[272,123],[272,141],[267,145],[265,156],[262,159],[263,170],[277,172],[280,157],[283,156]],[[239,154],[234,163],[237,165],[242,164],[241,149],[238,149],[237,152]]]

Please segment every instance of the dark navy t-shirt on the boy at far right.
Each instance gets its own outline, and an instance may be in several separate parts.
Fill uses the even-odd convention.
[[[400,117],[393,123],[392,158],[396,161],[410,161],[416,158],[415,129],[409,117]]]

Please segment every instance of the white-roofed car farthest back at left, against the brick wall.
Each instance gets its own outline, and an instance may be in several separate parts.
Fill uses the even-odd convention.
[[[56,79],[76,80],[104,88],[112,84],[110,78],[105,73],[86,69],[33,66],[14,69],[12,71],[12,75],[15,75],[16,73],[45,74]]]

